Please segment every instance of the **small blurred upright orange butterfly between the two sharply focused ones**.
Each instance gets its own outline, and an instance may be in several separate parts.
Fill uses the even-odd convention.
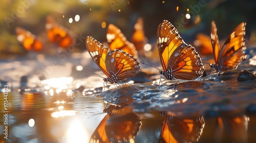
[[[143,19],[139,17],[134,25],[134,32],[131,38],[131,42],[136,47],[137,51],[143,50],[143,46],[146,43],[146,38],[143,30]]]

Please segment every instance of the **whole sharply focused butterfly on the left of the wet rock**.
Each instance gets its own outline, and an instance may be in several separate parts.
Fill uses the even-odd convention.
[[[95,63],[108,76],[103,78],[104,82],[117,83],[140,72],[138,60],[122,50],[112,51],[90,36],[86,39],[86,46]]]

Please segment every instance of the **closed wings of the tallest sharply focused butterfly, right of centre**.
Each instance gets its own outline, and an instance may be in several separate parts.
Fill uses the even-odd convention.
[[[157,46],[164,71],[173,73],[175,79],[194,80],[202,76],[203,64],[199,54],[187,45],[176,28],[167,20],[158,27]]]

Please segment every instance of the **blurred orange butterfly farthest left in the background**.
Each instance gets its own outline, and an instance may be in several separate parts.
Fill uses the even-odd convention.
[[[42,42],[37,40],[35,35],[32,34],[31,32],[19,28],[16,28],[16,35],[17,35],[17,40],[23,44],[25,49],[27,51],[34,50],[34,51],[41,51],[42,50]]]

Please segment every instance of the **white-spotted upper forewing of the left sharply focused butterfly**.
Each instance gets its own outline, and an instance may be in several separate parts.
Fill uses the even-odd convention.
[[[106,67],[106,55],[108,55],[111,50],[90,36],[86,38],[86,47],[94,62],[99,66],[103,73],[110,78]]]

